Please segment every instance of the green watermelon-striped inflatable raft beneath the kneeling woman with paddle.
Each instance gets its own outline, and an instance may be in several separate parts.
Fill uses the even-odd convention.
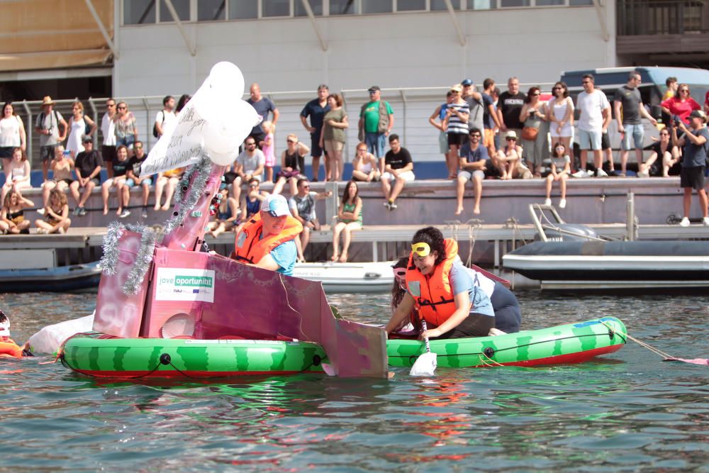
[[[496,337],[431,340],[438,367],[559,365],[580,363],[620,350],[627,332],[615,317],[525,330]],[[386,343],[389,366],[411,367],[425,345],[418,340],[394,339]]]

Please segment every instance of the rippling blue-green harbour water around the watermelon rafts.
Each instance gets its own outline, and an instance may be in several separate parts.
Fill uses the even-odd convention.
[[[525,328],[612,315],[671,355],[709,357],[709,296],[518,296]],[[6,294],[0,307],[25,340],[94,299]],[[364,322],[388,307],[384,295],[329,299]],[[101,385],[46,360],[0,361],[0,471],[709,472],[709,367],[635,343],[583,365],[396,369],[389,381]]]

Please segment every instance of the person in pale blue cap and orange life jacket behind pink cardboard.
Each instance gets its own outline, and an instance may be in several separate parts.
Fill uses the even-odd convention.
[[[231,257],[291,276],[298,257],[294,239],[301,231],[303,226],[291,216],[286,198],[271,194],[237,233]]]

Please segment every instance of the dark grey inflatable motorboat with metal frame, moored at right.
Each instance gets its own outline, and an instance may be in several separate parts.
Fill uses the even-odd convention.
[[[505,255],[503,264],[539,280],[542,290],[709,287],[709,241],[607,240],[590,228],[565,223],[552,206],[532,204],[530,212],[535,241]]]

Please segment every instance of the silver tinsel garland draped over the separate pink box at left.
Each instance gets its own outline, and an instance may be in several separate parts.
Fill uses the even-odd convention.
[[[125,230],[140,233],[140,248],[135,257],[133,268],[125,278],[123,284],[123,294],[137,294],[140,284],[143,284],[145,274],[150,269],[152,254],[155,251],[157,233],[150,227],[144,225],[123,225],[119,222],[108,224],[108,232],[104,236],[104,256],[101,257],[101,269],[106,275],[116,274],[118,265],[118,241],[121,240]]]

